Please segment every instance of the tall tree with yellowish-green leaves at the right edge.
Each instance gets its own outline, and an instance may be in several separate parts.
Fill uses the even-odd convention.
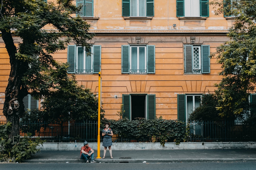
[[[248,92],[256,83],[256,1],[216,0],[215,15],[234,16],[236,22],[229,29],[230,41],[217,47],[217,62],[223,69],[222,80],[216,84],[218,106],[221,116],[241,114],[243,103],[248,100]]]

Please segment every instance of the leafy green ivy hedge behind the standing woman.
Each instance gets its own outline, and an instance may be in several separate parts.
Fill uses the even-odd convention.
[[[183,142],[186,137],[186,127],[183,122],[179,120],[166,120],[162,117],[154,120],[146,120],[138,118],[136,120],[128,120],[126,117],[119,120],[103,119],[103,123],[109,122],[114,134],[124,139],[156,139],[161,145],[165,145],[166,141],[176,142],[179,144]]]

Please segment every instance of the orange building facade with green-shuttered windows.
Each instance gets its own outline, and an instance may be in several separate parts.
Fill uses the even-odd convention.
[[[162,116],[185,121],[201,95],[213,92],[221,80],[220,65],[209,55],[229,41],[226,33],[234,22],[233,17],[214,15],[207,2],[77,0],[74,3],[83,5],[79,15],[95,34],[89,42],[92,55],[70,42],[53,56],[69,62],[69,73],[94,93],[101,72],[101,100],[108,119],[118,119],[123,104],[124,115],[131,120]],[[4,121],[10,65],[1,37],[0,70],[0,121]]]

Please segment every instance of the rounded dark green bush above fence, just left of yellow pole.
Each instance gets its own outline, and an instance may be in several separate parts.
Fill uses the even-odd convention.
[[[66,122],[69,120],[97,120],[98,99],[90,89],[72,84],[65,85],[59,90],[45,96],[41,102],[44,112],[50,122]],[[104,112],[104,110],[101,110]]]

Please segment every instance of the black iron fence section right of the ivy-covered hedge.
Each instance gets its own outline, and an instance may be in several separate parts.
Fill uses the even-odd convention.
[[[256,141],[256,123],[241,121],[190,121],[187,123],[189,142]]]

